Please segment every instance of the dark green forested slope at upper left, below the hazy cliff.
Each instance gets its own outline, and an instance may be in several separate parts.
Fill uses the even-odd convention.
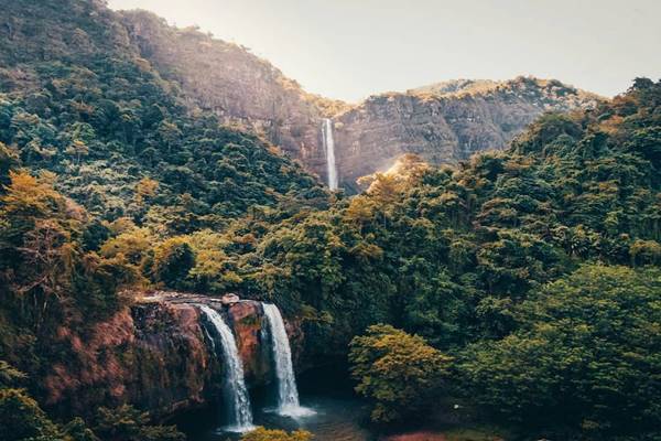
[[[0,141],[24,165],[58,174],[56,186],[91,213],[174,232],[193,226],[175,225],[184,212],[218,225],[252,205],[323,196],[274,147],[188,115],[102,4],[2,9]]]

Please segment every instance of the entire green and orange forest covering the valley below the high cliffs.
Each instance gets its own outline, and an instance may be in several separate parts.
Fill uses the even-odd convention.
[[[180,437],[32,398],[71,358],[57,332],[148,287],[278,302],[310,362],[350,355],[378,422],[453,395],[522,438],[661,437],[661,83],[349,198],[187,114],[113,13],[66,3],[0,0],[3,439]]]

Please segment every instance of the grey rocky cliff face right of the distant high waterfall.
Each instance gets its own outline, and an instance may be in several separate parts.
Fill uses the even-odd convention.
[[[334,118],[340,180],[348,184],[384,171],[404,153],[441,164],[500,150],[542,112],[592,107],[598,99],[560,82],[525,77],[373,96]]]

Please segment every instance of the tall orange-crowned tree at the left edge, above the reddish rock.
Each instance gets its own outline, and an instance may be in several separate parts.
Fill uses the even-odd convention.
[[[86,213],[53,189],[52,176],[10,172],[10,179],[0,197],[0,268],[12,293],[32,300],[39,329],[53,299],[69,294],[79,254],[73,236]]]

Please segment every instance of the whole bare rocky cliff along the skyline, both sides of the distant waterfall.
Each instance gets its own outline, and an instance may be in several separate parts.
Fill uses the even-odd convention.
[[[225,123],[261,133],[324,181],[321,127],[323,118],[332,118],[345,187],[388,169],[403,153],[437,164],[503,149],[543,111],[590,107],[600,99],[557,80],[518,77],[440,83],[350,105],[305,93],[242,46],[169,26],[144,11],[122,18],[142,56],[181,86],[193,111],[213,111]]]

